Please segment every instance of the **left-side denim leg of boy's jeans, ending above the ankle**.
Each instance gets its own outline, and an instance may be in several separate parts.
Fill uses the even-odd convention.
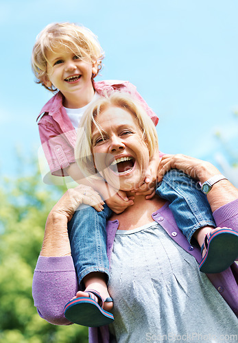
[[[104,211],[97,212],[91,206],[80,206],[68,223],[69,241],[73,263],[80,288],[82,279],[89,273],[101,272],[106,283],[109,263],[106,255],[106,222],[112,211],[105,204]]]

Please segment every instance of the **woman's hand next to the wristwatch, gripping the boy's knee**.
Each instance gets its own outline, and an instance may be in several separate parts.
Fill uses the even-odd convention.
[[[158,166],[158,181],[163,179],[163,176],[167,171],[174,168],[184,171],[186,174],[202,183],[214,175],[221,174],[219,170],[209,162],[182,154],[168,154],[161,158],[160,165]]]

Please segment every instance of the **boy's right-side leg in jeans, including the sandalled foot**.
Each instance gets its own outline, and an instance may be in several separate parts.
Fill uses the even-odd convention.
[[[191,237],[198,239],[202,248],[201,272],[222,272],[237,259],[237,232],[230,228],[215,228],[211,207],[197,181],[183,171],[171,169],[156,193],[169,200],[178,228],[188,241]]]

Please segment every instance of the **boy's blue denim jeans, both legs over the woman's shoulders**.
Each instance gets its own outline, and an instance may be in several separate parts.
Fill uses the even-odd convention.
[[[171,169],[163,177],[156,194],[170,202],[178,228],[190,242],[195,230],[214,226],[215,222],[206,196],[198,182],[182,171]],[[68,224],[73,263],[81,285],[90,272],[102,272],[109,279],[109,263],[106,255],[106,222],[112,211],[106,204],[104,211],[82,205]]]

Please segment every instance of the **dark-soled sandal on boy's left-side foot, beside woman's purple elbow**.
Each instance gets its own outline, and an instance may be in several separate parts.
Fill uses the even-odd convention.
[[[104,303],[113,301],[112,298],[102,299],[95,290],[85,291],[89,297],[80,296],[69,301],[64,307],[64,316],[75,324],[84,327],[102,327],[114,320],[113,314],[104,310]],[[97,303],[98,300],[98,303]]]

